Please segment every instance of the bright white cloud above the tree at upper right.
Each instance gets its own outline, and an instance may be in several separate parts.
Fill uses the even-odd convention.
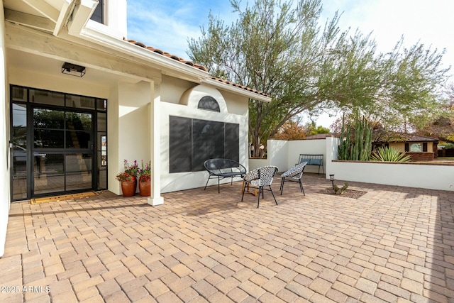
[[[445,67],[454,67],[454,45],[450,31],[454,28],[454,1],[450,0],[323,0],[323,16],[333,16],[334,11],[343,11],[339,25],[341,29],[349,26],[362,33],[372,33],[380,52],[394,48],[404,37],[406,48],[423,43],[441,51]]]

